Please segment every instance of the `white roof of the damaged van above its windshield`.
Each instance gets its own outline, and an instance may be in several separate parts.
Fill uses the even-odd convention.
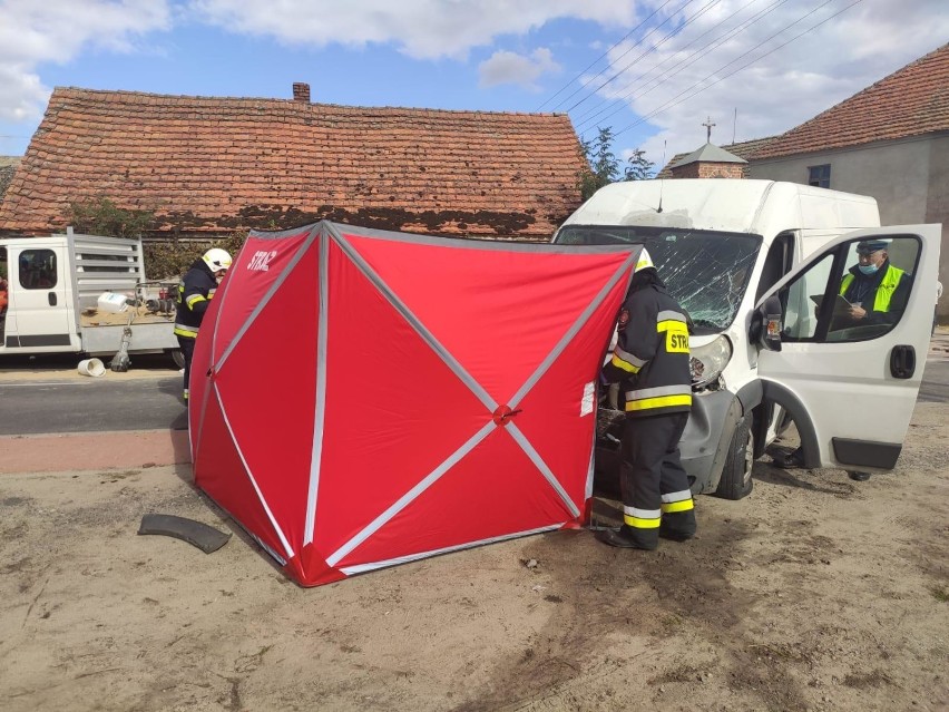
[[[767,236],[785,230],[875,227],[877,201],[798,183],[673,178],[607,185],[564,225],[654,225]]]

